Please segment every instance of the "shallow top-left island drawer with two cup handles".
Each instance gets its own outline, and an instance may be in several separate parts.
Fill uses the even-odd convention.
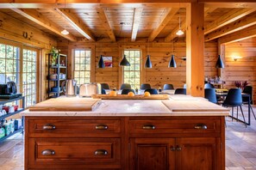
[[[28,124],[30,137],[98,137],[121,132],[121,119],[31,119]]]

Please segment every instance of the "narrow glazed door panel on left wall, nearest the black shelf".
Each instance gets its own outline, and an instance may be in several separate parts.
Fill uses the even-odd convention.
[[[36,103],[36,52],[23,49],[22,87],[25,96],[25,106]]]

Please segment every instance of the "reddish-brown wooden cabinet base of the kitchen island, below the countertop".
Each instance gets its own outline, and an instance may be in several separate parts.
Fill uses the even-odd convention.
[[[224,118],[26,117],[26,169],[224,170]]]

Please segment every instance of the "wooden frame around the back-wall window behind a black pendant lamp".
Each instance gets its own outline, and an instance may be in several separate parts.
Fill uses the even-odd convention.
[[[119,47],[119,61],[118,65],[122,61],[122,57],[125,50],[140,50],[140,84],[142,82],[146,82],[146,70],[144,64],[146,62],[146,46],[120,46]],[[119,74],[119,88],[123,83],[123,67],[127,66],[119,66],[118,74]]]

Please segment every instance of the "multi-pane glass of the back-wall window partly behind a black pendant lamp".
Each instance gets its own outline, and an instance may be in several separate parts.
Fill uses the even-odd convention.
[[[132,88],[140,88],[140,50],[124,50],[131,66],[123,67],[123,82]]]

